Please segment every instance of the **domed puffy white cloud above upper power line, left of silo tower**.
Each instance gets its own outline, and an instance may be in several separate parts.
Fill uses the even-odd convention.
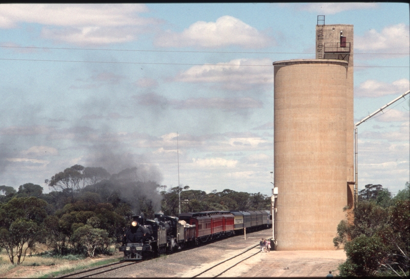
[[[264,48],[273,43],[267,35],[245,24],[241,20],[225,15],[216,22],[197,21],[182,33],[170,30],[155,40],[159,47],[222,48],[240,45],[244,48]]]

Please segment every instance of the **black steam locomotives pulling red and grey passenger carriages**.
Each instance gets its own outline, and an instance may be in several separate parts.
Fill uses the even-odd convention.
[[[179,217],[156,213],[154,219],[132,216],[120,252],[125,261],[146,260],[159,254],[272,227],[270,211],[205,211]]]

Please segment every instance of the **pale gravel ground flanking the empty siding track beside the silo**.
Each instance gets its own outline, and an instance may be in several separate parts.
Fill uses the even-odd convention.
[[[164,255],[150,261],[97,275],[100,277],[192,277],[201,271],[272,237],[272,229],[235,236],[190,250]],[[255,248],[258,251],[259,248]],[[325,276],[346,260],[343,250],[271,251],[259,253],[221,277],[286,277]]]

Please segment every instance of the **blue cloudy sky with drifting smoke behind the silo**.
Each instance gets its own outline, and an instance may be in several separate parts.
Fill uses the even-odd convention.
[[[409,90],[405,3],[0,5],[0,185],[75,164],[271,195],[274,67],[354,25],[354,120]],[[358,127],[359,190],[410,180],[410,95]],[[353,131],[352,131],[353,136]]]

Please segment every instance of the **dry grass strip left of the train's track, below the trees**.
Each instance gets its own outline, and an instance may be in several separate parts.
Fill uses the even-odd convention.
[[[46,250],[42,247],[38,252]],[[114,248],[114,247],[113,247]],[[119,255],[100,258],[78,259],[71,257],[47,257],[47,255],[32,254],[26,255],[24,262],[20,265],[13,265],[6,250],[0,252],[0,277],[1,278],[46,278],[55,277],[62,274],[80,270],[90,266],[104,265],[119,260]],[[16,260],[16,258],[15,258]]]

